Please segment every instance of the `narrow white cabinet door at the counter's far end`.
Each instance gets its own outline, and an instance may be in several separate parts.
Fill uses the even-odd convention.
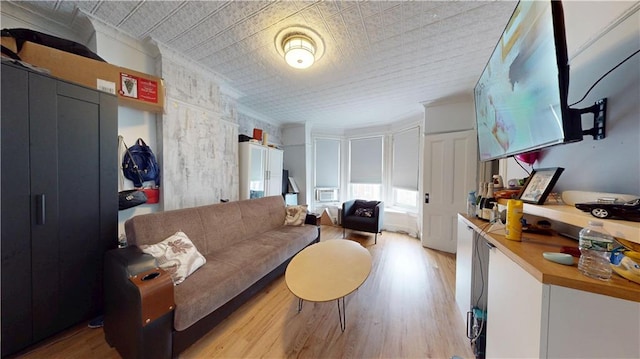
[[[471,309],[471,263],[473,259],[473,233],[471,226],[458,219],[458,244],[456,249],[456,304],[466,323]]]

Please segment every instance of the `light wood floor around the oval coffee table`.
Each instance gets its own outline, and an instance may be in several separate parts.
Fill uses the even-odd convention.
[[[455,256],[425,249],[406,235],[347,231],[369,249],[373,268],[346,298],[347,328],[340,331],[336,302],[297,298],[284,276],[256,295],[181,354],[181,358],[472,358],[455,305]],[[322,226],[322,240],[342,229]],[[318,268],[322,270],[322,268]],[[70,329],[20,356],[118,358],[102,329]]]

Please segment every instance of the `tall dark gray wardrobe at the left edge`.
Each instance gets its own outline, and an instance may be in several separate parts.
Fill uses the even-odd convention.
[[[2,63],[2,356],[102,313],[117,98]]]

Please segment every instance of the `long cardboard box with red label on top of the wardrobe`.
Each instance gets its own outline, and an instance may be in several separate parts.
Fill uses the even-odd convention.
[[[48,69],[52,76],[118,95],[123,106],[164,111],[164,84],[159,77],[33,42],[25,42],[18,55],[24,62]]]

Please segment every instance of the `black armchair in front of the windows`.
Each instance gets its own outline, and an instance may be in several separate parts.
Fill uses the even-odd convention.
[[[384,202],[352,199],[342,204],[342,237],[345,230],[375,233],[374,243],[378,243],[378,233],[382,234]]]

